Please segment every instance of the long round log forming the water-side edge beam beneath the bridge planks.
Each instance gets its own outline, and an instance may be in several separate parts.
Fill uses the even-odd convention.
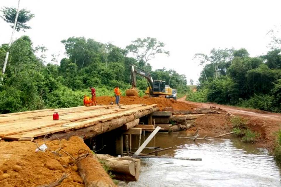
[[[153,107],[144,111],[137,111],[134,114],[121,116],[105,122],[98,122],[97,124],[90,127],[75,129],[64,133],[56,133],[56,136],[60,139],[68,139],[71,136],[79,136],[83,139],[93,138],[99,134],[117,129],[123,126],[123,124],[134,121],[135,119],[148,115],[157,110],[159,110],[157,107]],[[46,138],[46,140],[56,140],[56,136],[52,135],[49,138]],[[43,137],[44,136],[42,136],[42,138]]]

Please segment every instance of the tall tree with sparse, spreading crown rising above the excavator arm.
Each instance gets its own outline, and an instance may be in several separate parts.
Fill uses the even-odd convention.
[[[169,51],[164,50],[165,44],[163,42],[157,41],[156,38],[144,38],[136,39],[132,41],[132,44],[126,46],[126,49],[136,56],[136,59],[144,63],[146,67],[147,62],[154,58],[156,54],[165,53],[169,56]]]

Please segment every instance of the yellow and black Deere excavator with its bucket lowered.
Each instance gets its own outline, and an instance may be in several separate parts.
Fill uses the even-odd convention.
[[[145,72],[136,65],[131,65],[132,88],[126,90],[126,96],[138,96],[138,90],[136,89],[136,75],[145,77],[148,81],[148,87],[145,90],[145,94],[148,94],[151,97],[172,95],[172,88],[170,88],[169,85],[166,85],[165,81],[153,81],[150,73]]]

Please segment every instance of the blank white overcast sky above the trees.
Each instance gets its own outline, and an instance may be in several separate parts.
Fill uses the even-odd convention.
[[[0,6],[16,7],[17,2],[0,0]],[[63,54],[60,41],[72,36],[121,48],[139,37],[155,37],[170,56],[157,55],[149,62],[153,69],[172,68],[197,82],[202,67],[192,61],[195,53],[231,47],[244,47],[251,56],[266,53],[266,33],[280,25],[280,7],[280,0],[21,0],[20,8],[35,17],[28,22],[32,29],[16,33],[16,38],[30,36],[34,46],[46,46],[50,56]],[[9,42],[11,31],[1,19],[0,44]]]

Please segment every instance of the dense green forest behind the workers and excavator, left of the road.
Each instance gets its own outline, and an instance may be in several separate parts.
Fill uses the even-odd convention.
[[[181,92],[187,90],[185,75],[165,68],[152,71],[147,63],[149,58],[128,57],[128,54],[132,53],[133,56],[133,52],[137,53],[141,48],[148,50],[150,56],[156,51],[167,54],[163,50],[164,44],[155,38],[137,39],[126,49],[84,37],[70,37],[61,42],[65,45],[68,58],[61,59],[60,65],[45,62],[46,48],[33,47],[28,36],[20,37],[10,48],[7,44],[1,45],[1,67],[7,50],[10,55],[0,86],[0,113],[82,105],[84,94],[90,94],[89,86],[97,89],[97,96],[113,96],[114,87],[119,85],[124,95],[125,89],[130,87],[131,64],[150,72],[155,80],[170,82],[172,88]],[[139,46],[140,43],[142,46]],[[149,46],[158,46],[159,49],[153,51]],[[37,57],[36,53],[41,57]],[[142,95],[147,81],[142,77],[137,79]]]

